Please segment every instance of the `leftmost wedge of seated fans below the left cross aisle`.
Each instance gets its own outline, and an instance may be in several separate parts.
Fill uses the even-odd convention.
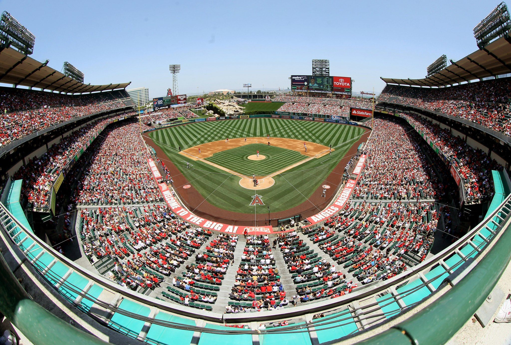
[[[84,208],[78,224],[89,260],[112,258],[109,278],[133,290],[159,287],[211,236],[179,221],[164,205]]]

